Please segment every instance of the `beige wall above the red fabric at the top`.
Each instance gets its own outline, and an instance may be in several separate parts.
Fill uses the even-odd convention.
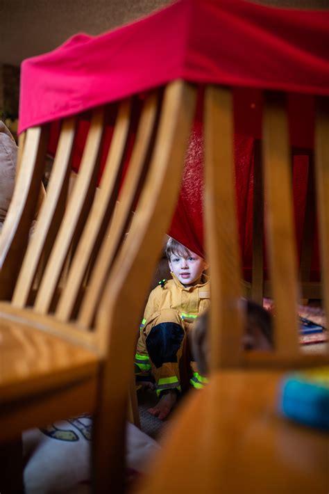
[[[0,0],[0,63],[19,65],[24,58],[57,47],[74,33],[99,34],[167,3],[170,0]],[[329,6],[329,0],[263,0],[262,3]]]

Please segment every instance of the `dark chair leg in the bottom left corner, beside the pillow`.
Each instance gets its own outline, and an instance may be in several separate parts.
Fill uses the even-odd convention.
[[[0,493],[24,493],[22,437],[0,445]]]

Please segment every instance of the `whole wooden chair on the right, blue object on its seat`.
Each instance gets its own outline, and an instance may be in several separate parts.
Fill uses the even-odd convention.
[[[244,314],[233,168],[233,102],[205,89],[205,232],[211,269],[208,385],[178,409],[138,494],[314,493],[328,486],[328,436],[280,417],[278,386],[288,369],[328,364],[298,344],[298,276],[285,96],[264,95],[262,164],[267,248],[276,307],[274,349],[242,351]],[[323,300],[329,309],[328,101],[319,102],[315,168]]]

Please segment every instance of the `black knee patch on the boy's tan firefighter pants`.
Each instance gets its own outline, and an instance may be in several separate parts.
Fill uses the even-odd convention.
[[[146,349],[158,369],[166,362],[177,362],[177,352],[184,339],[184,330],[176,322],[154,326],[146,337]]]

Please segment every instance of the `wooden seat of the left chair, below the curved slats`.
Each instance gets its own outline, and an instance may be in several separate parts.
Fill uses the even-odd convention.
[[[99,353],[74,341],[74,335],[56,335],[60,324],[51,317],[36,324],[32,311],[0,305],[1,440],[52,420],[93,413]]]

